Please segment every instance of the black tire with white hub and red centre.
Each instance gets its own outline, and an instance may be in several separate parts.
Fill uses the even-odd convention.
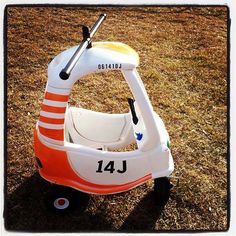
[[[85,195],[69,187],[53,185],[45,197],[45,205],[53,213],[67,214],[83,202]]]

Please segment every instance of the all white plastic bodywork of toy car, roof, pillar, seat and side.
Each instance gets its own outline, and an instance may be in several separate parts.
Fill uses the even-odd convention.
[[[81,76],[106,70],[121,70],[135,99],[138,124],[132,123],[130,113],[104,114],[69,108],[65,115],[66,140],[63,145],[51,142],[38,132],[40,140],[49,147],[66,151],[74,172],[91,183],[116,185],[130,183],[150,174],[152,178],[169,176],[174,170],[173,159],[167,147],[169,136],[164,123],[153,111],[136,70],[139,63],[137,54],[121,43],[93,45],[91,49],[85,50],[66,81],[59,78],[59,73],[76,47],[58,55],[49,65],[46,91],[67,95]],[[57,116],[44,114],[48,117]],[[70,139],[72,142],[69,142]],[[125,147],[135,140],[138,150],[104,151]],[[97,150],[98,148],[103,150]]]

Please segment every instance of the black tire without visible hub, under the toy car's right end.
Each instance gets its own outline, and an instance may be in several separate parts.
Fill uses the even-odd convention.
[[[154,194],[157,205],[164,207],[170,198],[170,189],[172,185],[167,177],[157,178],[154,180]]]

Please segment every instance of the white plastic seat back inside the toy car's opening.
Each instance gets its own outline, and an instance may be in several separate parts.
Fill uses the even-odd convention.
[[[107,114],[70,107],[66,133],[74,143],[93,148],[114,149],[135,142],[129,113]]]

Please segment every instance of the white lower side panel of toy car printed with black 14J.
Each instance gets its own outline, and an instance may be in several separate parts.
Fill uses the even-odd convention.
[[[67,151],[74,172],[95,184],[125,184],[148,174],[151,174],[152,178],[169,176],[174,170],[173,159],[166,145],[157,146],[146,152],[140,150],[110,152],[68,142],[65,142],[64,146],[58,146],[48,143],[40,134],[39,138],[47,146]],[[97,172],[100,161],[103,162],[102,172]],[[111,161],[114,162],[113,173],[104,170]],[[118,170],[122,171],[124,169],[123,161],[126,161],[126,171],[119,173]]]

